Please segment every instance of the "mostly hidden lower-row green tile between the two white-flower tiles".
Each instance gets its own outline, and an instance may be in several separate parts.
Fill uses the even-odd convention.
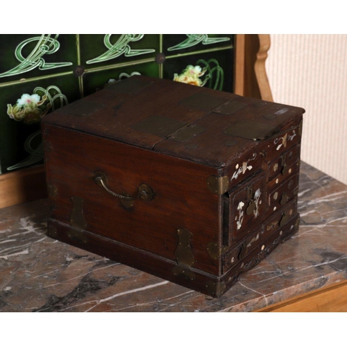
[[[118,81],[119,78],[126,78],[131,74],[159,77],[159,65],[156,62],[146,62],[128,67],[86,73],[83,75],[84,95],[87,96],[101,90],[110,79]]]

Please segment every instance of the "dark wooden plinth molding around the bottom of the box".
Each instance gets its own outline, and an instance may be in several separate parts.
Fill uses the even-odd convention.
[[[179,276],[177,276],[175,274],[177,271],[174,271],[174,269],[177,268],[178,264],[172,260],[106,237],[101,237],[87,230],[72,228],[68,224],[61,223],[55,219],[48,220],[48,235],[53,239],[58,239],[61,242],[82,248],[85,251],[121,262],[135,269],[163,278],[164,280],[169,280],[183,287],[194,289],[195,291],[216,298],[237,282],[239,277],[242,276],[242,273],[258,264],[278,244],[291,237],[298,230],[296,224],[297,218],[298,215],[291,219],[283,228],[280,228],[278,232],[266,239],[261,246],[255,248],[242,261],[239,260],[232,269],[228,270],[222,276],[214,276],[210,273],[190,268],[189,270],[194,273],[194,279],[192,276],[185,276],[184,271],[180,271]]]

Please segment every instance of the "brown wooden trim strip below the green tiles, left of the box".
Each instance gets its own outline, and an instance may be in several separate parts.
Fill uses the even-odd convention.
[[[0,208],[46,196],[44,165],[0,175]]]

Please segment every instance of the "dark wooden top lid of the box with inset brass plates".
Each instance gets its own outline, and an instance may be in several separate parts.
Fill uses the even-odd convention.
[[[146,76],[133,76],[44,116],[133,146],[225,167],[240,153],[285,130],[305,112]]]

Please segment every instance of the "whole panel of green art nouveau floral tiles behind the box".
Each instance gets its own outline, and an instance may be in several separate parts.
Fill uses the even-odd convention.
[[[37,88],[54,87],[72,102],[134,73],[172,80],[191,65],[204,72],[205,87],[232,92],[230,34],[1,35],[0,47],[0,174],[40,163],[30,151],[41,151],[40,118],[53,108],[42,99],[17,104],[24,95],[36,100]],[[199,85],[193,77],[177,81]]]

